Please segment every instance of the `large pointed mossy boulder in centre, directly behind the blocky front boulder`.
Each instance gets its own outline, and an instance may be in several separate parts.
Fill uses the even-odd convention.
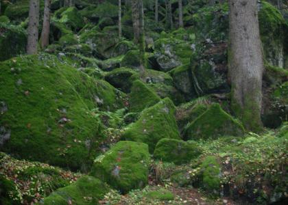
[[[122,139],[147,143],[152,153],[163,138],[180,139],[175,120],[175,107],[169,98],[142,111],[139,120],[130,124]]]

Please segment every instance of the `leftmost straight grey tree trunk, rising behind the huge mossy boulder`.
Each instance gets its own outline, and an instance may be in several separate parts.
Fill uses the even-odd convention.
[[[38,26],[39,26],[39,0],[30,0],[27,54],[37,53]]]

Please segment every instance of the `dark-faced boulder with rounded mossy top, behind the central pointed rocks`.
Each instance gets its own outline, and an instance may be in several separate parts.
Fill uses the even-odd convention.
[[[123,92],[130,92],[132,82],[137,79],[137,72],[130,68],[117,68],[105,74],[105,80]]]

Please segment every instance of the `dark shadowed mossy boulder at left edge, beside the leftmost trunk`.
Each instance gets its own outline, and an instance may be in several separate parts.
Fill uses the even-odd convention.
[[[0,23],[0,61],[26,52],[27,33],[20,26]]]

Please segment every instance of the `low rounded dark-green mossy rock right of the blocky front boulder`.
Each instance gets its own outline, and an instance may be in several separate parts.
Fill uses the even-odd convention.
[[[160,139],[154,150],[154,157],[176,165],[189,163],[201,154],[201,149],[195,141],[182,141],[178,139]]]

